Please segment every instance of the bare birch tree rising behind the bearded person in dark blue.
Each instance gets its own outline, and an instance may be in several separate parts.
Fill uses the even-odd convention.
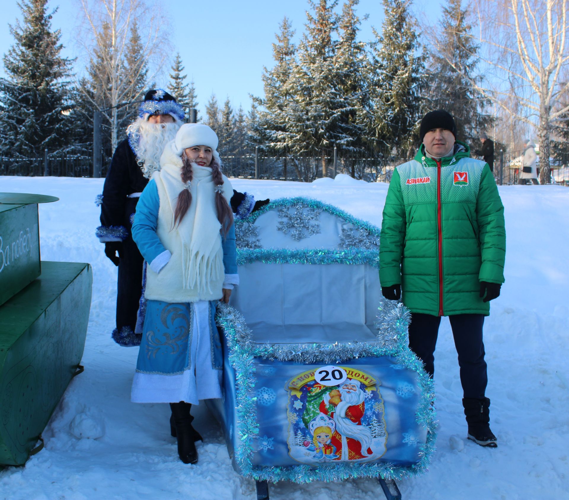
[[[117,106],[137,100],[141,78],[146,77],[147,84],[162,69],[169,48],[167,24],[159,7],[145,0],[81,0],[81,6],[86,36],[80,41],[89,58],[91,76],[100,82],[100,94],[86,97],[108,120],[114,151],[118,143]],[[131,32],[137,25],[141,56],[137,64],[126,64]],[[147,68],[154,70],[145,75]]]

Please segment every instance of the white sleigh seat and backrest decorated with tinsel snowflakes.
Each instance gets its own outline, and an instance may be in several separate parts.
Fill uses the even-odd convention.
[[[376,340],[379,229],[306,198],[236,222],[231,304],[258,343]],[[352,263],[352,264],[351,264]]]

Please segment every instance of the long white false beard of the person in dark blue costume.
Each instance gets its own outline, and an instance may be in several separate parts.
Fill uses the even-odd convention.
[[[180,123],[149,123],[138,118],[126,129],[133,144],[138,144],[137,163],[142,174],[149,179],[152,173],[160,170],[160,157],[164,147],[176,137]]]

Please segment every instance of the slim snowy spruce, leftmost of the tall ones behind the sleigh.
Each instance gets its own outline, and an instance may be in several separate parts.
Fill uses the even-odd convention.
[[[263,129],[265,139],[263,149],[283,158],[283,175],[287,178],[287,156],[291,151],[291,133],[288,130],[288,106],[292,99],[290,78],[292,68],[296,64],[296,47],[292,43],[295,31],[290,20],[285,16],[279,24],[280,31],[275,34],[277,43],[273,43],[273,59],[275,65],[270,70],[263,68],[263,87],[265,97],[253,98],[254,105],[261,106],[258,116],[258,127]],[[258,137],[260,140],[261,137]],[[256,145],[259,145],[257,143]]]

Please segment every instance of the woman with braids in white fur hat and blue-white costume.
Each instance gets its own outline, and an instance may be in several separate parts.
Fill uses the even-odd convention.
[[[137,206],[133,239],[150,263],[131,400],[170,403],[178,455],[197,463],[191,405],[221,397],[216,304],[238,284],[235,230],[215,132],[184,124]]]

